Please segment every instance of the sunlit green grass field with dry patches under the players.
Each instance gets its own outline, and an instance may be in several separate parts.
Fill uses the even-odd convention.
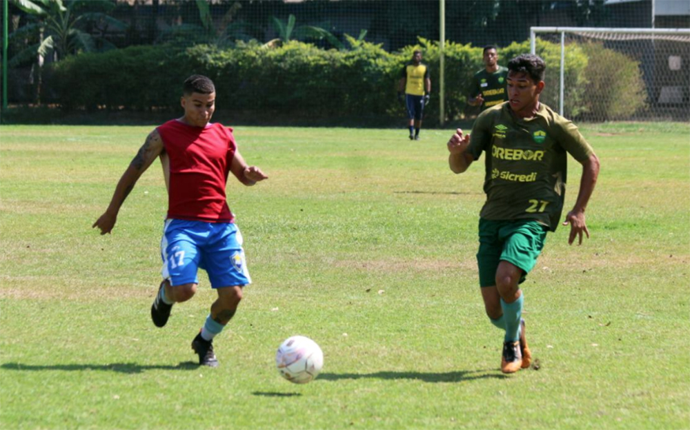
[[[254,283],[221,367],[197,367],[206,275],[164,329],[149,317],[159,164],[112,235],[91,229],[151,128],[0,128],[2,429],[690,427],[689,125],[582,127],[602,160],[592,237],[549,234],[524,283],[538,368],[513,376],[477,286],[483,163],[453,175],[450,130],[237,127],[270,176],[228,184]],[[293,334],[324,351],[308,385],[275,369]]]

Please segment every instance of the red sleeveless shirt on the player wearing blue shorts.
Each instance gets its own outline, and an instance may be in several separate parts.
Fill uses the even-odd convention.
[[[219,123],[194,127],[173,119],[158,128],[170,159],[168,218],[232,223],[225,187],[237,145]]]

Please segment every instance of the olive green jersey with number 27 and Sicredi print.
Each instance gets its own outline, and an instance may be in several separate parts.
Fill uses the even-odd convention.
[[[482,218],[532,219],[552,232],[563,210],[567,154],[580,162],[593,154],[578,127],[544,103],[531,119],[517,118],[509,103],[485,110],[467,151],[475,160],[486,152]]]

